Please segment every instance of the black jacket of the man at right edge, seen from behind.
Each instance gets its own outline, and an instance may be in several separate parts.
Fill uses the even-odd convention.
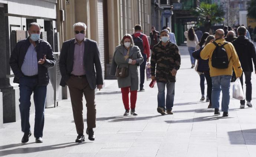
[[[256,67],[256,52],[253,42],[242,35],[234,40],[232,44],[236,49],[243,71],[253,72],[252,61],[254,67]]]

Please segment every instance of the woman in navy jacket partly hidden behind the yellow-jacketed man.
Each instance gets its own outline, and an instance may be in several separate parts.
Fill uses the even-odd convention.
[[[212,90],[212,82],[211,82],[211,76],[210,76],[210,68],[209,68],[209,59],[204,60],[200,57],[200,53],[203,50],[203,48],[205,47],[205,45],[207,45],[211,40],[214,40],[214,36],[213,35],[209,35],[206,38],[206,41],[204,43],[204,45],[193,52],[193,57],[198,59],[198,66],[197,66],[197,71],[198,72],[202,72],[206,82],[207,82],[207,98],[209,99],[209,105],[208,108],[211,108],[211,90]],[[207,100],[206,100],[207,102]]]

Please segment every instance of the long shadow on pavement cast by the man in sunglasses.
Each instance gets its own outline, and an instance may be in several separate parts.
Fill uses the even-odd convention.
[[[84,144],[80,143],[80,144]],[[68,145],[67,145],[68,144]],[[7,147],[10,148],[9,144],[7,145]],[[62,146],[65,145],[65,146]],[[16,148],[16,149],[12,149],[12,150],[2,150],[0,151],[0,156],[6,156],[6,155],[10,155],[10,154],[26,154],[26,153],[34,153],[34,152],[39,152],[39,151],[46,151],[46,150],[55,150],[55,149],[62,149],[62,148],[66,148],[66,147],[72,147],[72,146],[76,146],[78,145],[78,143],[61,143],[61,144],[54,144],[54,145],[50,145],[50,146],[39,146],[39,147],[26,147],[26,148]],[[23,146],[21,144],[13,144],[14,147],[16,146]],[[1,146],[4,147],[5,146]]]

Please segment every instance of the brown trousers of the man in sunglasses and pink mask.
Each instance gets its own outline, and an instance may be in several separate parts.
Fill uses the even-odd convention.
[[[76,132],[83,134],[83,95],[87,107],[87,127],[96,127],[95,89],[91,89],[86,78],[70,76],[67,82],[73,109]]]

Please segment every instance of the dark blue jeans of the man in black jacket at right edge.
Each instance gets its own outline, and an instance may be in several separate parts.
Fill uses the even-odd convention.
[[[252,82],[251,82],[251,78],[252,78],[252,72],[248,72],[248,71],[244,71],[244,77],[245,77],[245,85],[246,85],[246,100],[247,101],[251,101],[252,100]],[[243,87],[243,73],[240,77],[240,81]],[[240,104],[245,105],[245,100],[240,100]]]

